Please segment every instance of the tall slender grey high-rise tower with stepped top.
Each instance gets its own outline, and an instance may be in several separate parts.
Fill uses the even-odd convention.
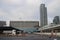
[[[45,26],[47,25],[47,8],[45,7],[45,4],[40,5],[40,25]]]

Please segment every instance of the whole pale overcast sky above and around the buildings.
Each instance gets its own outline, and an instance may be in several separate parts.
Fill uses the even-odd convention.
[[[0,0],[0,20],[40,20],[40,4],[47,7],[48,22],[60,16],[60,0]]]

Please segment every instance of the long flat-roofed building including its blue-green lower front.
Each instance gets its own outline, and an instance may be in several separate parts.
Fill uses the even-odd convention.
[[[10,26],[26,32],[32,32],[39,26],[39,21],[10,21]]]

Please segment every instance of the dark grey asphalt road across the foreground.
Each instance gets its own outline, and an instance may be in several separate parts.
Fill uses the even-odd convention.
[[[47,35],[29,34],[21,37],[0,37],[0,40],[60,40],[60,37],[49,37]]]

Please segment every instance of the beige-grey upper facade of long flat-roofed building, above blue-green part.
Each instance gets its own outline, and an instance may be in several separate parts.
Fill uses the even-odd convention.
[[[10,26],[12,27],[34,27],[39,25],[39,21],[10,21]]]

